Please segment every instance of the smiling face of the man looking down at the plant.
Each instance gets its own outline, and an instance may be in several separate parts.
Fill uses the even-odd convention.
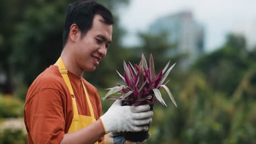
[[[103,20],[101,15],[95,15],[91,29],[76,43],[75,61],[85,71],[95,70],[106,56],[107,48],[112,41],[112,25],[107,25],[102,22]]]

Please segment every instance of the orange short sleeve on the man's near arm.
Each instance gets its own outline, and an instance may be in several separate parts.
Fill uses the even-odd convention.
[[[25,123],[33,143],[60,143],[65,133],[63,100],[56,89],[42,89],[25,105]]]

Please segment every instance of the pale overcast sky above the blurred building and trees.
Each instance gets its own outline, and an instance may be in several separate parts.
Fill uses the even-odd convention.
[[[137,31],[147,31],[158,17],[182,10],[190,10],[194,19],[205,27],[206,51],[221,46],[228,32],[256,21],[255,0],[131,0],[119,12],[120,24],[129,32],[124,44],[137,44]]]

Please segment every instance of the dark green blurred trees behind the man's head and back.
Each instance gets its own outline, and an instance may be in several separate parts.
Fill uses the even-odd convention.
[[[5,21],[0,32],[1,63],[0,74],[4,73],[8,79],[4,89],[11,92],[14,79],[24,82],[28,87],[36,76],[50,64],[54,64],[62,50],[62,28],[64,24],[65,8],[70,1],[1,1],[1,21]],[[85,74],[86,79],[96,86],[106,86],[112,79],[116,62],[122,58],[123,48],[120,38],[124,31],[118,25],[117,11],[120,5],[129,1],[99,1],[109,7],[115,17],[113,27],[113,50],[104,59],[96,73]],[[13,9],[18,8],[18,9]],[[8,12],[9,11],[9,12]],[[120,59],[120,63],[121,63]],[[104,73],[102,71],[104,70]],[[97,79],[95,79],[97,77]],[[13,78],[13,79],[12,79]],[[106,78],[106,79],[105,79]],[[107,79],[109,78],[109,79]],[[7,83],[7,84],[6,84]],[[16,87],[20,83],[15,81]],[[0,83],[1,84],[1,83]],[[0,89],[2,92],[2,90]],[[4,92],[5,93],[5,92]],[[25,97],[25,95],[24,95]]]

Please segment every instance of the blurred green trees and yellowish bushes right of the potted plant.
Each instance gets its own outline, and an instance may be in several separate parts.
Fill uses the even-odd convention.
[[[154,107],[148,143],[256,142],[255,52],[244,46],[244,38],[229,35],[221,49],[181,73],[170,88],[178,107]]]

